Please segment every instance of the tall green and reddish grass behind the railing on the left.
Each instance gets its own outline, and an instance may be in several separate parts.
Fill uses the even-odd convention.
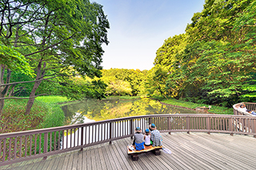
[[[5,100],[0,133],[64,125],[64,113],[58,103],[70,101],[66,97],[37,97],[30,114],[25,115],[27,101],[24,99]]]

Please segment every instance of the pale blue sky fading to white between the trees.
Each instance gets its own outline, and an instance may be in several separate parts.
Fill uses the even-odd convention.
[[[102,45],[103,69],[151,69],[167,38],[185,33],[204,0],[92,0],[110,22],[109,45]]]

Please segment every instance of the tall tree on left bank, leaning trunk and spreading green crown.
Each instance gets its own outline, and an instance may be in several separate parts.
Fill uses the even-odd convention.
[[[13,42],[10,40],[15,39],[19,51],[30,60],[30,65],[36,73],[34,87],[26,107],[28,114],[42,81],[51,79],[66,86],[72,84],[68,77],[75,76],[75,71],[82,76],[101,76],[98,70],[102,69],[101,45],[108,44],[106,29],[109,28],[109,22],[102,6],[87,0],[31,3],[21,0],[18,4],[19,6],[14,6],[13,2],[6,1],[2,3],[2,9],[5,9],[5,6],[14,6],[13,8],[22,11],[19,21],[30,18],[30,14],[34,14],[34,20],[24,23],[15,22],[16,18],[8,20],[9,15],[2,10],[2,21],[7,21],[6,26],[10,26],[9,30],[16,31],[14,37],[6,36],[6,40],[11,44]],[[15,14],[15,11],[13,13]],[[6,33],[7,30],[2,29],[2,33]],[[86,89],[89,90],[88,93],[91,90],[89,87]],[[62,95],[65,94],[65,91],[62,91]]]

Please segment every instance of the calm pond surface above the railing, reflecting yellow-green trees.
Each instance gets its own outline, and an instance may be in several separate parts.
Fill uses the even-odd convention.
[[[152,114],[196,113],[194,110],[162,105],[149,98],[123,100],[108,98],[101,101],[86,99],[62,106],[66,115],[66,125],[82,124],[90,121],[104,121],[119,117],[134,117]]]

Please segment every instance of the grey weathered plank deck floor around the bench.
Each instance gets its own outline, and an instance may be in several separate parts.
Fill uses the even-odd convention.
[[[255,169],[256,138],[252,136],[211,133],[162,133],[162,155],[152,152],[132,161],[127,155],[130,138],[112,144],[84,148],[83,152],[66,152],[11,164],[0,169]]]

